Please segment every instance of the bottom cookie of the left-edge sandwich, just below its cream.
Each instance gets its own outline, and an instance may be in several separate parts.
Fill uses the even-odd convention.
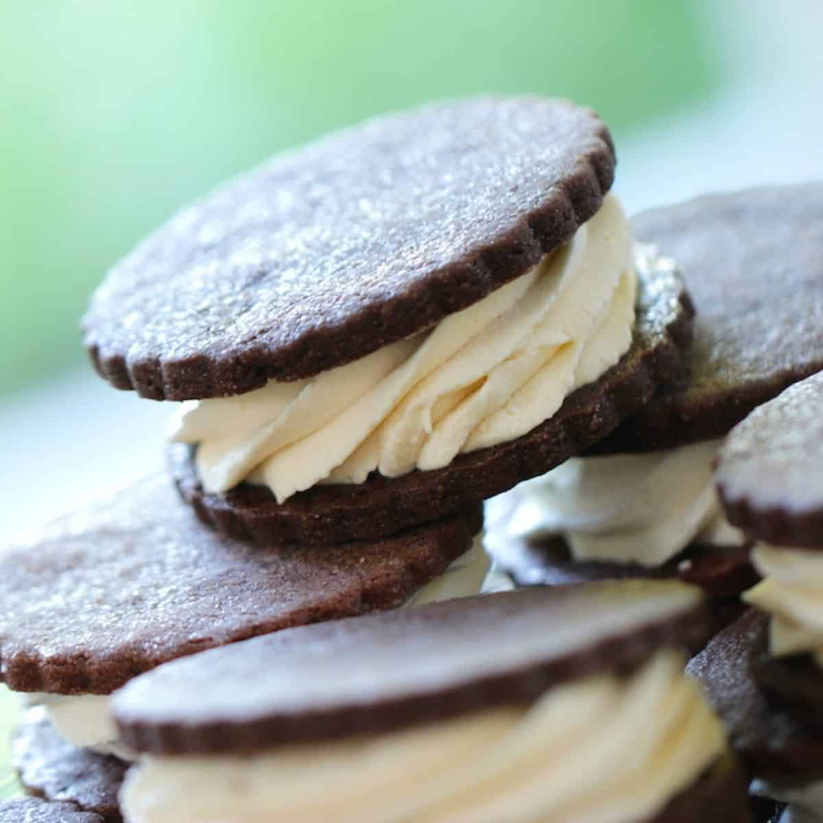
[[[24,715],[12,745],[12,765],[26,791],[37,797],[70,803],[76,810],[100,815],[106,823],[123,819],[118,794],[128,764],[67,743],[43,709],[30,709]],[[86,819],[91,823],[97,818],[79,816],[77,823]]]

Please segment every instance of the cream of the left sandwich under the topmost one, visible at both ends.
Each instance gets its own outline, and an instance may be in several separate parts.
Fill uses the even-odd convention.
[[[402,608],[455,597],[472,597],[500,588],[507,588],[506,581],[491,570],[491,560],[483,551],[482,537],[477,535],[468,551],[438,578],[418,589]],[[135,759],[133,753],[118,741],[114,718],[109,712],[109,695],[34,693],[26,695],[25,704],[42,706],[55,731],[72,746],[115,755],[121,760]]]

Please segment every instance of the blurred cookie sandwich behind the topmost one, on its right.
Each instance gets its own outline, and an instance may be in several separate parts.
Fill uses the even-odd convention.
[[[712,461],[748,412],[823,368],[821,210],[823,184],[812,184],[635,217],[635,236],[672,255],[695,301],[686,371],[586,457],[499,504],[495,551],[517,579],[680,577],[733,613],[756,575]]]

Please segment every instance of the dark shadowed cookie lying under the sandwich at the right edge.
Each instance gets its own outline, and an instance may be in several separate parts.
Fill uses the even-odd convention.
[[[768,617],[751,609],[709,642],[687,671],[700,680],[752,778],[806,783],[823,778],[823,732],[765,695],[752,672]]]

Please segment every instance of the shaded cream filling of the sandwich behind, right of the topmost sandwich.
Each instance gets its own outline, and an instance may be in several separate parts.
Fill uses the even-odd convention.
[[[520,486],[513,537],[561,534],[575,560],[663,565],[695,540],[742,546],[714,491],[719,440],[648,454],[573,458]]]

